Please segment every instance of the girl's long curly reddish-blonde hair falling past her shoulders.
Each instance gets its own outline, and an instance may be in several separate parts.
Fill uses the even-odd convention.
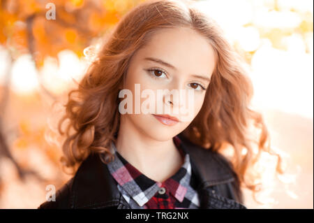
[[[197,31],[208,39],[216,54],[216,67],[200,113],[182,134],[205,150],[222,152],[232,148],[228,160],[237,180],[241,187],[255,194],[260,190],[258,175],[248,170],[262,152],[268,152],[278,157],[276,173],[283,173],[281,155],[270,147],[262,115],[250,108],[253,85],[244,59],[224,37],[218,24],[197,10],[191,1],[144,1],[126,13],[106,36],[77,88],[68,93],[65,115],[58,128],[65,138],[61,163],[74,174],[91,152],[103,154],[100,157],[105,157],[105,163],[112,161],[110,145],[119,131],[119,87],[130,59],[158,29],[174,27]],[[65,120],[68,124],[63,131]],[[255,138],[251,137],[254,131],[258,132]]]

